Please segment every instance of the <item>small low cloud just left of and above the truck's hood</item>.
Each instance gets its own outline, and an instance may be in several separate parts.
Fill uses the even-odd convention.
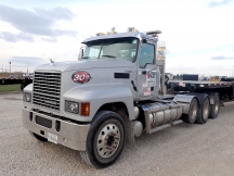
[[[26,65],[28,64],[29,66],[35,66],[39,65],[44,62],[44,59],[37,58],[37,56],[12,56],[9,59],[9,62],[12,62],[12,64],[18,64],[18,65]]]

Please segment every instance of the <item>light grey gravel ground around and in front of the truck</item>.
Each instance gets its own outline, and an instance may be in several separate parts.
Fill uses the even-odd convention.
[[[234,102],[206,125],[180,124],[143,134],[105,169],[84,164],[79,152],[34,139],[22,126],[22,93],[0,95],[0,175],[234,175]]]

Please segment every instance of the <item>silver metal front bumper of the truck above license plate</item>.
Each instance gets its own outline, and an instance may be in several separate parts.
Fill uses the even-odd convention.
[[[30,121],[30,112],[32,113],[32,118]],[[46,121],[52,122],[51,127],[44,127],[36,123],[36,116],[46,118]],[[55,123],[60,121],[61,127],[60,131],[55,129]],[[31,133],[35,133],[41,137],[48,139],[50,134],[57,136],[56,143],[68,147],[74,150],[86,151],[86,141],[90,124],[80,125],[73,122],[67,122],[64,120],[58,120],[51,117],[46,114],[29,111],[28,109],[23,109],[23,125]]]

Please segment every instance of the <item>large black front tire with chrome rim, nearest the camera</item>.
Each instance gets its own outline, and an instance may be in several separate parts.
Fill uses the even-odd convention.
[[[114,164],[122,152],[126,129],[121,116],[115,112],[101,111],[91,123],[87,149],[81,151],[83,161],[96,168]]]

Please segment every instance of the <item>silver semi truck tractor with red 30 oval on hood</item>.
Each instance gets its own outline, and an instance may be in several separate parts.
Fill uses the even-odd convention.
[[[103,168],[142,133],[217,118],[216,89],[167,95],[166,43],[159,34],[113,28],[84,39],[78,61],[38,66],[23,92],[25,128],[40,141],[80,151],[87,164]]]

